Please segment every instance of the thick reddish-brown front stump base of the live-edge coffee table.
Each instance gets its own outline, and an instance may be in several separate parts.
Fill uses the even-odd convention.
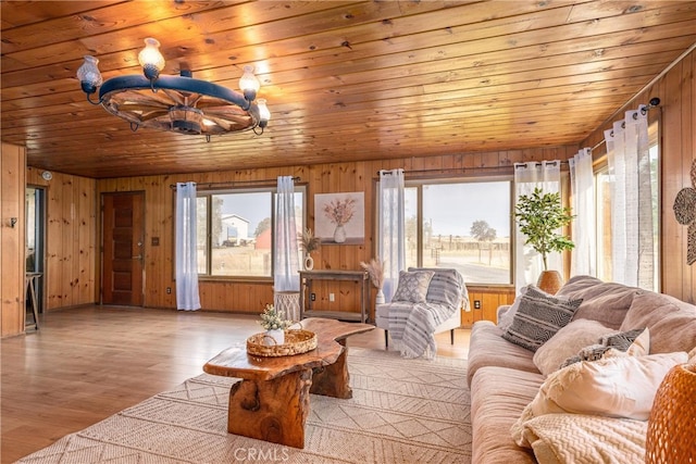
[[[241,380],[232,386],[227,431],[288,447],[304,448],[312,369],[271,380]]]

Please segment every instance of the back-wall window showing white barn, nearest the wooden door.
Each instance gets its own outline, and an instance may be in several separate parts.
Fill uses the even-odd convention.
[[[304,226],[304,187],[295,190],[299,237]],[[275,188],[203,190],[198,192],[197,208],[199,275],[273,276]]]

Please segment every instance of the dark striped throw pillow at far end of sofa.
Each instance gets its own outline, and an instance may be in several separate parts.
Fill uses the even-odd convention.
[[[502,338],[530,351],[536,351],[567,326],[583,300],[551,297],[531,287],[520,300],[520,308]]]

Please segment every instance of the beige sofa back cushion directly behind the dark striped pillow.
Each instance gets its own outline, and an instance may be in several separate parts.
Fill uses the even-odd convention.
[[[641,291],[622,284],[605,283],[592,276],[575,276],[563,285],[557,297],[583,299],[575,312],[576,319],[599,321],[602,325],[619,329],[631,308],[633,298]],[[631,327],[631,328],[636,328]]]

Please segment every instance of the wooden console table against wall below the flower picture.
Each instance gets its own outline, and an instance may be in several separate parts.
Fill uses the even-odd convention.
[[[315,311],[312,309],[313,280],[351,280],[360,286],[360,314],[349,311]],[[307,297],[306,298],[306,293]],[[340,321],[368,322],[370,276],[366,271],[300,271],[300,321],[304,317],[327,317]]]

